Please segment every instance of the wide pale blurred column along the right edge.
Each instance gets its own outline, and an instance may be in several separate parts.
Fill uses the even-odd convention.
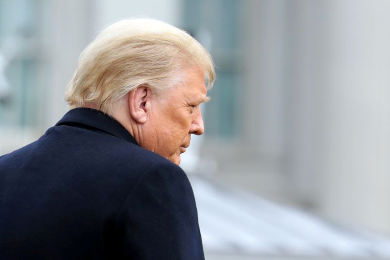
[[[390,2],[290,7],[286,188],[329,219],[390,233]]]

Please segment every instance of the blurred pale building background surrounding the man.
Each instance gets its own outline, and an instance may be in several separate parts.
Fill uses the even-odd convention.
[[[164,20],[212,54],[183,158],[206,258],[390,259],[390,1],[0,0],[0,155],[66,111],[107,25]]]

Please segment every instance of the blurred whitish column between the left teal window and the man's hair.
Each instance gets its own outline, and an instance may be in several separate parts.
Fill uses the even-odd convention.
[[[80,52],[92,39],[94,5],[90,0],[45,0],[41,10],[45,34],[47,75],[44,90],[44,129],[55,124],[68,110],[64,93],[77,68]]]

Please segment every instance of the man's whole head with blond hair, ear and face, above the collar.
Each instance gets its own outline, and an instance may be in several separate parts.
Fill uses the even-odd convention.
[[[184,31],[121,20],[81,53],[66,101],[113,116],[142,147],[179,164],[190,135],[203,133],[200,103],[214,80],[210,55]]]

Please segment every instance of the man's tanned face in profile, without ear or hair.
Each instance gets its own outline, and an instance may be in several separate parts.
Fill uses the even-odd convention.
[[[180,154],[190,145],[191,134],[203,134],[200,104],[209,100],[206,95],[204,73],[187,69],[181,83],[152,100],[148,138],[141,146],[178,165]]]

